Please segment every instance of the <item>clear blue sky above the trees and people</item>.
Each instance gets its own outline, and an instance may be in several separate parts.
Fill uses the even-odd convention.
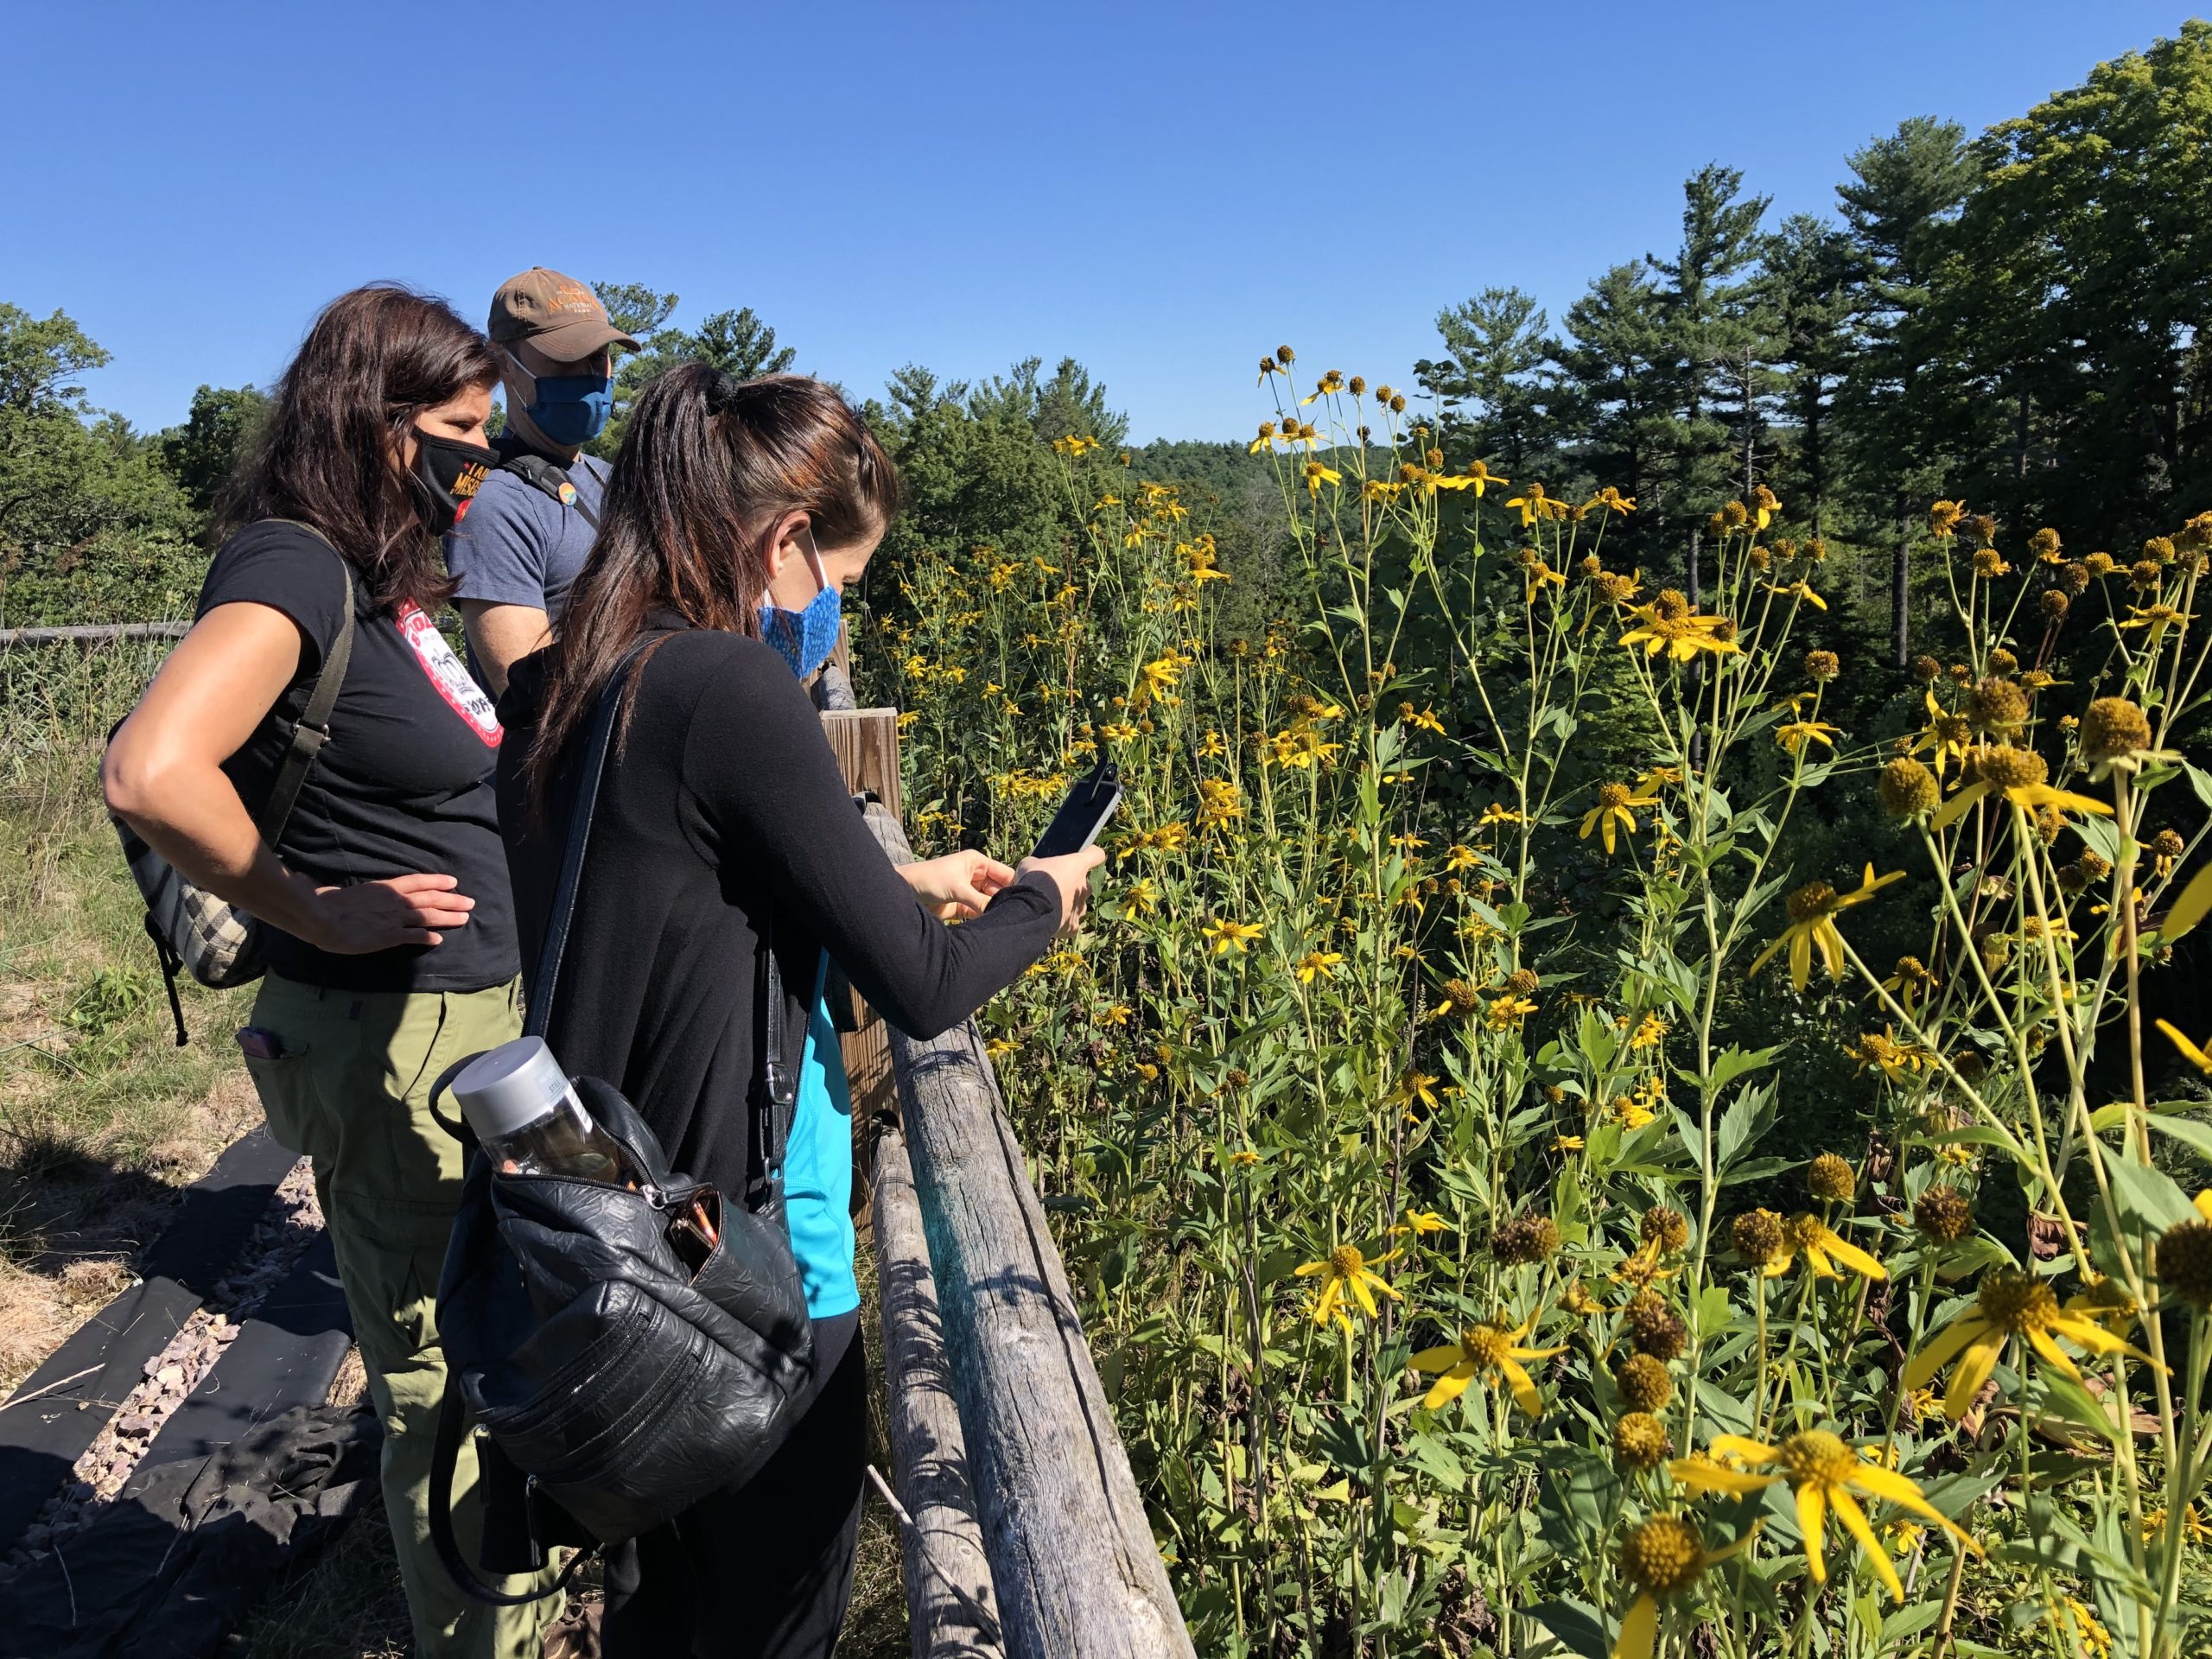
[[[394,276],[524,265],[752,305],[876,392],[1082,358],[1133,436],[1230,438],[1261,352],[1409,378],[1436,312],[1557,316],[1741,166],[1832,210],[1907,115],[1980,131],[2188,15],[1962,4],[22,4],[0,299],[179,420]]]

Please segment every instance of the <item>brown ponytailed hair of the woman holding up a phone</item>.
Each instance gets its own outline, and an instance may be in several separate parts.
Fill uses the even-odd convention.
[[[834,387],[803,374],[739,380],[686,363],[637,398],[599,511],[524,761],[540,810],[562,745],[591,717],[650,611],[757,637],[776,522],[805,513],[818,546],[878,535],[898,511],[898,471]]]

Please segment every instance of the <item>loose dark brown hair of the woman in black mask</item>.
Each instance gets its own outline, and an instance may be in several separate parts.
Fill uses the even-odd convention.
[[[498,378],[491,341],[442,299],[398,283],[338,294],[276,383],[217,533],[259,518],[312,524],[367,577],[378,606],[414,599],[436,611],[453,582],[429,529],[429,487],[398,453],[418,414]]]

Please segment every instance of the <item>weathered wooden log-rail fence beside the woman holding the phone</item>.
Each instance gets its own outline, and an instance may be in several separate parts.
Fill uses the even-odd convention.
[[[816,701],[849,787],[876,796],[869,830],[907,863],[896,710],[856,710],[841,668]],[[916,1659],[1190,1655],[975,1022],[929,1040],[856,1024]]]

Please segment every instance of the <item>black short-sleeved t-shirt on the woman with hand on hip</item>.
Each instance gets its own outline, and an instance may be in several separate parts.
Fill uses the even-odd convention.
[[[338,991],[482,991],[515,975],[515,914],[493,805],[500,721],[451,646],[420,608],[376,611],[367,584],[296,524],[250,524],[223,544],[199,591],[199,615],[219,604],[265,604],[299,624],[299,675],[246,745],[223,763],[246,810],[261,807],[307,708],[323,653],[345,619],[354,584],[354,657],[330,712],[330,741],[307,772],[276,838],[290,869],[319,885],[418,872],[456,876],[476,900],[467,927],[442,945],[332,956],[268,931],[270,969]]]

